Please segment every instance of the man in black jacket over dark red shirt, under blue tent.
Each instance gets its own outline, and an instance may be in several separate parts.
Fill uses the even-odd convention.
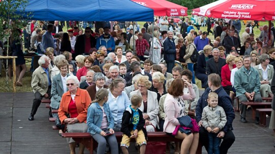
[[[95,48],[96,39],[94,36],[92,36],[91,32],[92,32],[91,27],[86,27],[85,33],[77,37],[75,46],[74,46],[76,56],[81,54],[88,55],[90,49]]]

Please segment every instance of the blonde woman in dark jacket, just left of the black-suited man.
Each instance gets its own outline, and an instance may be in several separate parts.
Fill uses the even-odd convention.
[[[202,82],[202,88],[205,88],[205,86],[207,87],[208,75],[206,74],[206,61],[213,57],[212,49],[211,46],[206,45],[203,48],[203,54],[198,57],[195,75]]]

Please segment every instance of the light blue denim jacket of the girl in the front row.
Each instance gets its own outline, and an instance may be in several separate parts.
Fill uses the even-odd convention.
[[[113,118],[112,112],[110,110],[110,107],[107,103],[104,103],[103,108],[104,108],[104,112],[105,112],[107,120],[108,120],[108,129],[110,129],[110,128],[113,129],[114,128],[114,118]],[[88,133],[93,134],[93,135],[95,133],[100,134],[100,132],[102,131],[100,129],[102,119],[103,119],[103,111],[101,110],[99,104],[97,102],[92,103],[89,106],[88,112],[87,112]]]

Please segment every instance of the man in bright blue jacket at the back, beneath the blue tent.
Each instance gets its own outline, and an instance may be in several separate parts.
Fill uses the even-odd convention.
[[[100,46],[105,46],[108,53],[114,52],[116,46],[114,37],[109,34],[109,27],[104,27],[103,29],[104,34],[97,38],[96,49],[98,49]]]

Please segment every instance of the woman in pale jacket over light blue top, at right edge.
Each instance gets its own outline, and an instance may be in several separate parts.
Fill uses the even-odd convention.
[[[274,69],[273,66],[269,64],[269,56],[267,54],[262,54],[259,57],[259,62],[260,64],[254,68],[259,72],[261,81],[260,94],[262,97],[273,97],[270,85],[273,79]]]

